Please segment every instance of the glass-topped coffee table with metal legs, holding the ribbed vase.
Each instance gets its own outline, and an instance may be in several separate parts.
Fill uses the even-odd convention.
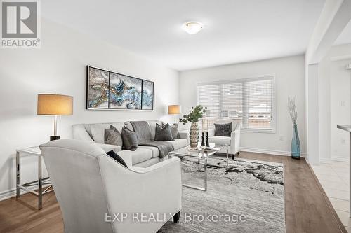
[[[170,153],[168,153],[168,158],[171,156],[176,156],[176,157],[197,158],[199,162],[202,160],[204,162],[204,187],[187,185],[187,184],[183,184],[183,186],[206,191],[207,190],[207,171],[206,171],[207,159],[208,157],[211,157],[211,155],[214,155],[215,153],[217,153],[218,150],[222,149],[223,147],[227,148],[227,169],[228,169],[228,160],[229,160],[228,145],[216,145],[215,143],[210,143],[210,148],[213,148],[214,150],[201,150],[200,146],[198,146],[199,150],[190,150],[190,146],[187,146],[184,148],[180,148],[178,150],[171,151]],[[213,157],[213,159],[216,159],[216,158]]]

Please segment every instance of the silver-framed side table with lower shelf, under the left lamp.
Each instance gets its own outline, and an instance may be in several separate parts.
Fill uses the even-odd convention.
[[[20,155],[34,155],[38,157],[38,179],[28,183],[20,184]],[[43,178],[41,172],[42,156],[38,146],[16,150],[16,197],[20,197],[20,190],[26,190],[38,196],[38,209],[43,207],[43,195],[53,191],[49,177]],[[31,187],[37,186],[38,191],[34,191]],[[43,190],[45,188],[45,190]]]

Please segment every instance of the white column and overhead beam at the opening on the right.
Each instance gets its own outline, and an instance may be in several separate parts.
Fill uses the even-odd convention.
[[[319,62],[350,21],[350,10],[351,0],[326,0],[305,52],[306,149],[307,161],[311,164],[318,164],[320,159],[323,160],[321,155],[329,150],[328,145],[322,144],[328,141],[324,134],[329,130],[321,130],[329,119],[320,115],[329,111],[324,106],[321,108],[324,103],[320,102],[327,98],[321,98],[323,92],[320,88],[328,83],[319,78]]]

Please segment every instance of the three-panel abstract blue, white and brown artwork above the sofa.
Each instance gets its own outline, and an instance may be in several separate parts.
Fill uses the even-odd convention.
[[[153,110],[154,82],[87,66],[87,109]]]

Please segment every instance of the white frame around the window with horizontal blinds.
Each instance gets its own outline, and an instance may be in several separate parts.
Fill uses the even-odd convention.
[[[205,85],[220,85],[220,84],[230,84],[230,83],[244,83],[244,82],[252,82],[259,80],[272,80],[272,128],[271,129],[263,129],[263,128],[241,128],[241,132],[254,132],[254,133],[267,133],[267,134],[275,134],[277,132],[277,85],[276,85],[276,77],[275,74],[267,74],[261,76],[253,76],[248,78],[233,78],[230,80],[219,80],[213,82],[200,82],[197,83],[197,104],[199,104],[199,86]],[[219,118],[220,119],[220,118]]]

